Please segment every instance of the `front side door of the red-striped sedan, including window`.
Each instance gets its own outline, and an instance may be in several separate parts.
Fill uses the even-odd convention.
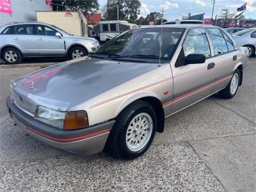
[[[189,29],[175,66],[172,66],[173,113],[213,93],[216,70],[210,47],[204,28]],[[185,65],[184,60],[189,54],[204,54],[205,63]]]

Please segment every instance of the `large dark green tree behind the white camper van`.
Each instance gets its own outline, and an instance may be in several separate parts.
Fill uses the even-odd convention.
[[[107,10],[103,13],[108,20],[117,20],[117,6],[119,10],[119,20],[128,20],[129,22],[136,22],[140,14],[139,0],[108,0]]]

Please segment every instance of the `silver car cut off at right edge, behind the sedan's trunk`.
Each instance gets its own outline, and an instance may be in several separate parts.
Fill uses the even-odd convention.
[[[232,35],[237,45],[241,47],[248,47],[249,56],[255,56],[256,47],[256,28],[249,28],[243,31],[239,31]]]

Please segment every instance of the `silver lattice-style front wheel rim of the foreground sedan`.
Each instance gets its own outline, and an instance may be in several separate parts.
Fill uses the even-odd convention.
[[[152,135],[153,121],[147,113],[136,115],[130,122],[126,132],[126,145],[136,152],[145,147]]]

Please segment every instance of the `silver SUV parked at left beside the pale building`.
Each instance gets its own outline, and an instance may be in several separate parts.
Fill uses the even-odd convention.
[[[95,38],[73,36],[43,22],[14,22],[0,27],[0,55],[7,64],[31,57],[76,59],[98,48]]]

